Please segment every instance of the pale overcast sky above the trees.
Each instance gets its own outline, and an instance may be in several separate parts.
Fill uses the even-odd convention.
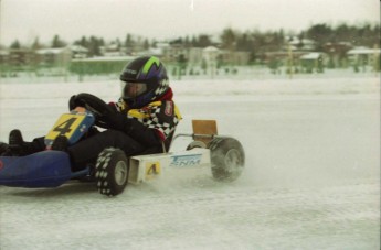
[[[380,22],[379,0],[0,0],[0,43],[107,40],[127,33],[157,40],[224,28],[300,31],[316,23]]]

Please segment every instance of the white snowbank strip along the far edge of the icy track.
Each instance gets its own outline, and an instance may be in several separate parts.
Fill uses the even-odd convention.
[[[176,97],[198,96],[268,96],[268,95],[325,95],[378,94],[380,78],[310,78],[310,79],[253,79],[253,80],[172,80]],[[63,98],[78,93],[94,94],[105,100],[119,95],[118,80],[86,83],[41,83],[0,85],[0,99]]]

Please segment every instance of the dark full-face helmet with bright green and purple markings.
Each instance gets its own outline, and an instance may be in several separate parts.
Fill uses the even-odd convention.
[[[155,56],[142,56],[128,63],[120,80],[121,98],[131,108],[144,107],[169,89],[167,70]]]

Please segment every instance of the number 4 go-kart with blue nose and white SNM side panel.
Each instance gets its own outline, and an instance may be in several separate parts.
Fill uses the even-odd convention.
[[[219,135],[214,120],[192,120],[192,133],[179,133],[172,139],[188,137],[191,143],[183,151],[127,157],[115,148],[104,149],[95,163],[72,172],[68,154],[51,150],[57,135],[74,144],[92,126],[104,127],[105,116],[114,110],[91,94],[78,94],[85,108],[63,113],[45,137],[46,150],[25,156],[0,156],[0,185],[12,187],[57,187],[71,180],[91,180],[100,194],[120,194],[127,183],[151,181],[173,169],[210,167],[215,181],[232,182],[244,167],[242,144],[234,138]]]

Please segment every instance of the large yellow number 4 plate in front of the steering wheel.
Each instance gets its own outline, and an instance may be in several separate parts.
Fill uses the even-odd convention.
[[[71,139],[74,132],[81,129],[78,127],[81,126],[85,117],[86,116],[78,113],[62,115],[60,119],[55,122],[51,131],[49,131],[45,139],[54,140],[57,135],[65,135],[67,139]]]

